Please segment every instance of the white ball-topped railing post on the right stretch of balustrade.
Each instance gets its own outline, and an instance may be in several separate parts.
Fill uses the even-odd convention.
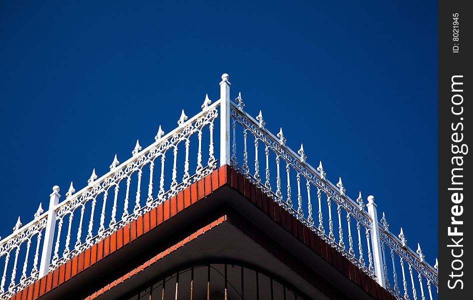
[[[366,204],[366,208],[368,209],[368,214],[371,217],[371,247],[373,253],[374,273],[376,274],[377,283],[385,288],[386,286],[382,266],[381,242],[379,238],[379,225],[376,204],[374,203],[374,196],[368,196],[368,204]]]

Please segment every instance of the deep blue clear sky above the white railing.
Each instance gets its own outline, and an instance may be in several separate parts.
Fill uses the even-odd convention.
[[[0,235],[205,93],[262,110],[437,256],[436,1],[0,2]]]

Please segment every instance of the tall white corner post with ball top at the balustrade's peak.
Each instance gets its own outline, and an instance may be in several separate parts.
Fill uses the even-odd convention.
[[[230,81],[228,74],[220,82],[220,166],[230,164]]]

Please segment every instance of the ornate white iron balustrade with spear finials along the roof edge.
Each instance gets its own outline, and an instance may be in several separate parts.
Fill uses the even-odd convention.
[[[333,184],[321,162],[314,168],[306,161],[302,145],[296,153],[286,145],[282,129],[276,135],[269,132],[261,111],[256,118],[247,114],[241,94],[231,101],[229,86],[228,75],[223,74],[219,100],[211,103],[206,96],[202,110],[188,120],[182,110],[174,130],[164,134],[159,126],[152,144],[141,150],[136,141],[129,159],[120,164],[115,155],[110,171],[97,178],[94,169],[79,191],[75,192],[71,182],[60,203],[59,187],[54,186],[48,210],[43,212],[40,204],[25,226],[21,227],[18,218],[13,233],[0,241],[0,298],[10,297],[214,170],[217,118],[220,165],[231,164],[397,298],[425,299],[427,294],[436,298],[432,285],[438,288],[437,263],[430,266],[420,246],[416,252],[406,246],[402,229],[398,237],[392,234],[384,214],[378,221],[374,198],[368,196],[367,204],[361,193],[351,199],[341,178]],[[184,151],[178,152],[182,145]],[[173,159],[166,164],[169,152]],[[154,168],[156,159],[159,167]],[[141,185],[146,183],[143,197]],[[402,291],[396,273],[399,265]],[[20,274],[17,269],[21,266]]]

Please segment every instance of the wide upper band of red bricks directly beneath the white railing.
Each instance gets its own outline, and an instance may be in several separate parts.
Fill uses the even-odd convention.
[[[25,289],[17,292],[10,299],[19,300],[26,298],[28,300],[33,300],[39,298],[43,294],[69,280],[76,274],[86,270],[94,263],[110,255],[112,252],[117,251],[124,245],[133,242],[133,240],[139,236],[152,230],[162,222],[179,213],[181,210],[203,199],[211,192],[226,184],[251,201],[261,211],[267,214],[268,217],[274,220],[274,222],[279,224],[295,238],[299,239],[307,247],[330,263],[334,268],[344,274],[348,279],[360,286],[373,298],[379,300],[394,299],[389,292],[386,292],[384,288],[379,286],[379,284],[367,276],[366,273],[353,265],[346,259],[346,257],[340,255],[318,235],[309,230],[303,223],[280,207],[272,200],[272,198],[268,197],[229,165],[221,166],[204,178],[192,183],[189,187],[180,191],[176,196],[164,201],[157,207],[138,217],[136,220],[119,228],[112,235],[100,240],[98,243],[94,244],[79,255],[72,257],[54,271],[49,272],[47,275],[36,280]],[[210,229],[211,225],[212,224],[209,224],[201,228],[201,231],[204,232],[205,230]],[[197,235],[197,233],[195,234]],[[249,236],[253,238],[255,235],[254,233],[249,232]],[[267,244],[263,244],[263,246],[264,245],[267,246]]]

